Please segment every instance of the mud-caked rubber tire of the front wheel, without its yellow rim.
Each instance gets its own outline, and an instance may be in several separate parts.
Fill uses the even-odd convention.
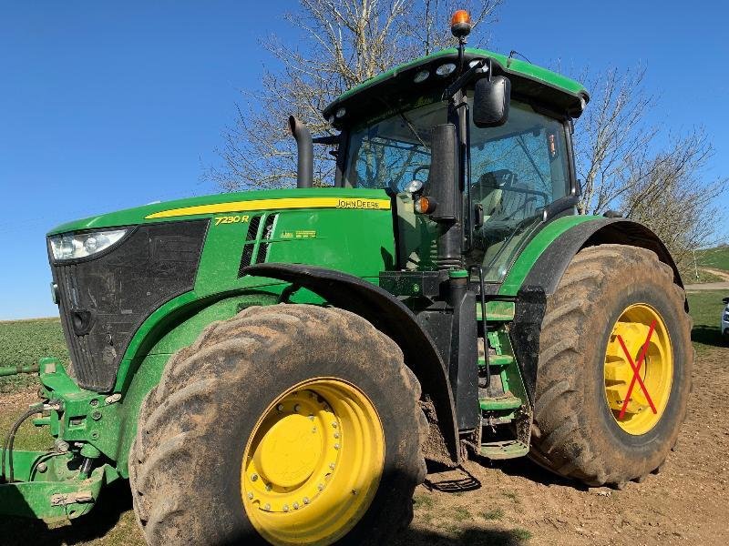
[[[369,510],[341,544],[386,543],[412,519],[425,479],[420,385],[394,341],[342,309],[252,307],[210,325],[171,357],[143,401],[129,454],[134,508],[152,545],[259,544],[241,502],[241,457],[279,394],[313,377],[344,379],[372,400],[385,467]]]

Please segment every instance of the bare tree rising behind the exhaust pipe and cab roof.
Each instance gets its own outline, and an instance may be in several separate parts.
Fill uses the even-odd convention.
[[[210,168],[207,177],[225,190],[292,185],[295,147],[287,116],[299,117],[314,134],[330,134],[322,110],[336,96],[392,66],[454,45],[449,15],[464,4],[472,8],[470,43],[484,44],[484,24],[495,21],[501,2],[300,0],[284,17],[302,40],[298,46],[276,36],[262,40],[272,56],[262,91],[241,91],[245,102],[237,105],[218,150],[221,167]],[[316,148],[314,180],[321,184],[332,178],[334,161],[325,147]]]

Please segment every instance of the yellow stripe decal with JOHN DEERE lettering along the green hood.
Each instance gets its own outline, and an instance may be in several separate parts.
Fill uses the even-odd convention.
[[[254,199],[232,201],[215,205],[171,208],[150,214],[150,218],[192,216],[196,214],[219,214],[221,212],[245,212],[247,210],[279,210],[286,208],[364,208],[368,210],[389,210],[389,199],[365,199],[363,197],[285,197],[282,199]]]

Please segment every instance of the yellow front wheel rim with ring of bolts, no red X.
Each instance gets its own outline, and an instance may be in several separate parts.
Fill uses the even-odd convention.
[[[310,379],[275,399],[253,429],[243,506],[272,544],[331,544],[364,516],[384,464],[385,432],[364,392]]]

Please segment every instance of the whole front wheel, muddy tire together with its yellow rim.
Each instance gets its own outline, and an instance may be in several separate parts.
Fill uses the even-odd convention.
[[[425,479],[420,385],[342,309],[253,307],[169,361],[129,457],[147,541],[379,544]]]

